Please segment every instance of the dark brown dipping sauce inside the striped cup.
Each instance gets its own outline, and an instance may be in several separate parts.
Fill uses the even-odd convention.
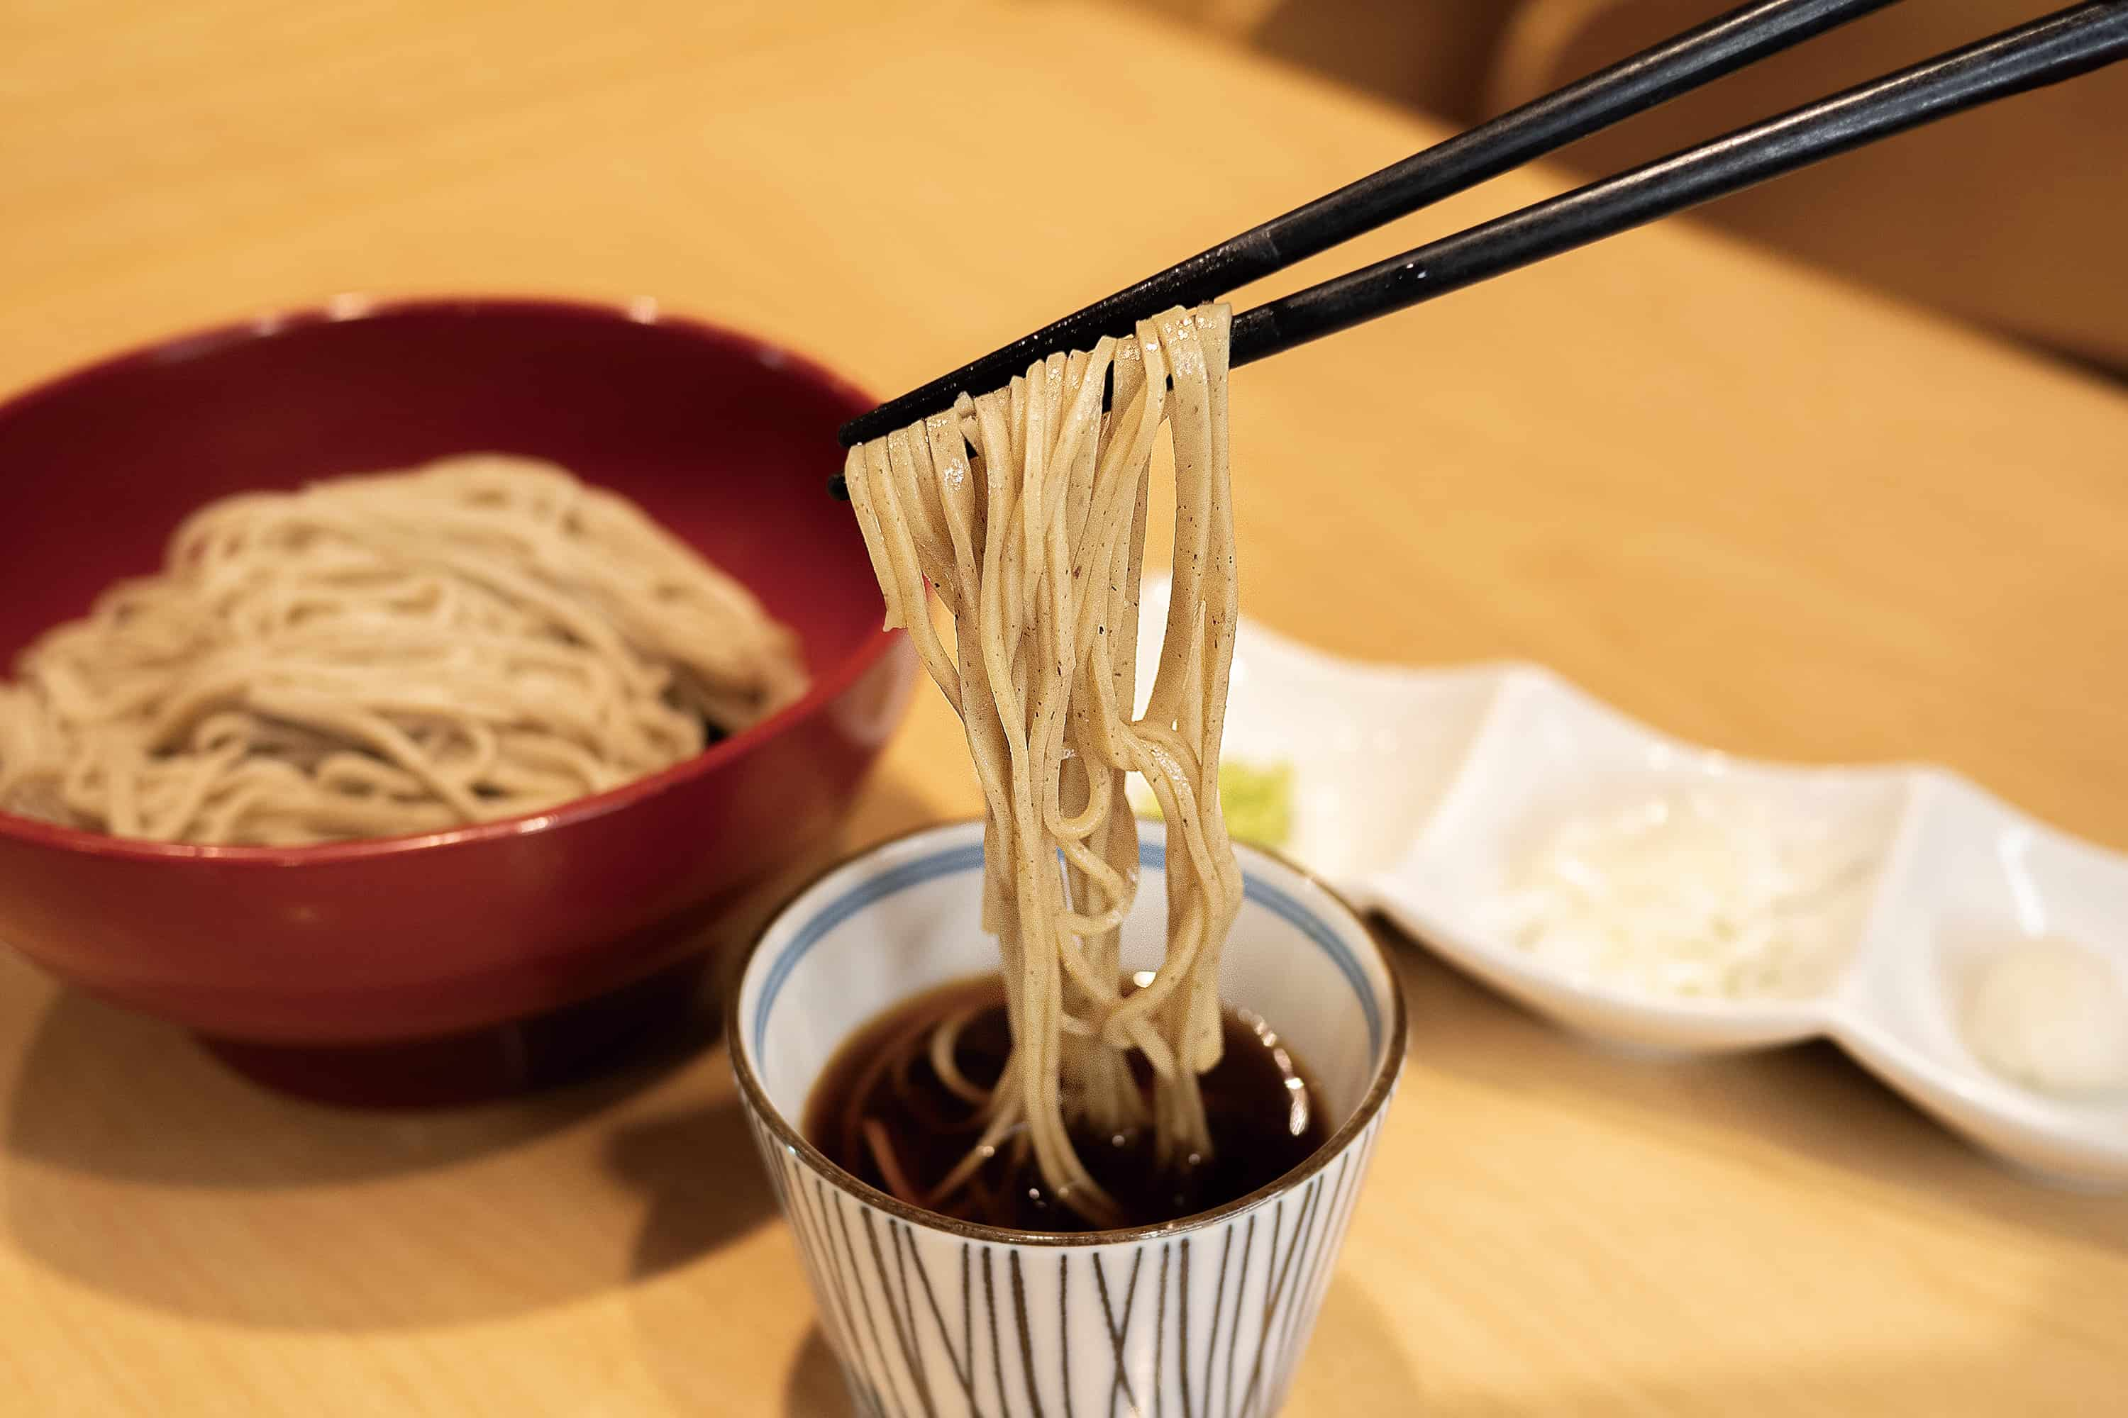
[[[1011,1052],[1004,984],[996,976],[960,980],[917,995],[858,1029],[821,1071],[807,1099],[804,1135],[836,1167],[894,1195],[864,1120],[883,1127],[900,1180],[928,1197],[983,1133],[985,1110],[947,1088],[930,1065],[932,1029],[977,1010],[960,1031],[953,1061],[968,1082],[990,1088]],[[1151,1069],[1132,1054],[1138,1086]],[[1256,1014],[1226,1010],[1226,1052],[1200,1080],[1213,1154],[1181,1169],[1160,1169],[1151,1129],[1090,1137],[1073,1129],[1085,1169],[1121,1208],[1113,1225],[1143,1227],[1196,1216],[1247,1197],[1307,1161],[1330,1140],[1321,1097],[1307,1069]],[[930,1210],[1017,1231],[1092,1231],[1043,1186],[1032,1154],[1015,1163],[1007,1137],[970,1184]]]

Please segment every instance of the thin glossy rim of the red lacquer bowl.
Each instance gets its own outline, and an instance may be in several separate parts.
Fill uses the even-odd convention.
[[[636,298],[630,302],[579,300],[566,296],[404,296],[379,298],[366,293],[334,296],[321,304],[289,306],[234,319],[202,330],[134,344],[115,355],[104,355],[87,364],[72,366],[0,398],[0,421],[13,419],[34,406],[60,398],[70,389],[106,374],[136,366],[177,364],[211,355],[234,344],[272,340],[313,325],[345,325],[351,321],[394,319],[409,315],[564,315],[587,317],[609,323],[653,325],[672,330],[689,340],[721,347],[728,353],[751,357],[777,374],[821,387],[832,398],[845,400],[851,412],[870,408],[877,400],[849,378],[836,374],[819,359],[787,349],[772,340],[745,334],[730,325],[694,315],[672,315],[662,302]],[[826,493],[821,493],[826,495]],[[734,763],[755,748],[783,733],[792,725],[826,710],[836,697],[885,659],[902,640],[904,631],[877,629],[855,651],[813,676],[807,693],[783,706],[768,719],[747,725],[738,733],[724,738],[692,759],[681,759],[655,774],[634,778],[604,793],[572,797],[553,808],[496,818],[492,823],[468,823],[443,831],[402,833],[396,838],[358,838],[351,842],[319,842],[313,846],[213,846],[200,842],[149,842],[143,838],[115,838],[85,827],[66,827],[40,818],[0,810],[0,838],[13,838],[43,848],[85,853],[92,857],[117,857],[130,861],[215,861],[232,867],[292,867],[313,863],[370,861],[398,857],[438,846],[470,842],[500,842],[543,831],[558,831],[575,823],[621,812],[638,801],[655,797],[692,778],[700,778],[726,763]]]

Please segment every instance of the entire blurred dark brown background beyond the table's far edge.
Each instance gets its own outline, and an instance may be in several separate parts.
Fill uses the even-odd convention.
[[[1732,0],[1115,0],[1468,125]],[[1560,166],[1605,174],[2060,9],[1896,4]],[[2128,68],[1879,142],[1696,217],[1800,261],[2128,378]]]

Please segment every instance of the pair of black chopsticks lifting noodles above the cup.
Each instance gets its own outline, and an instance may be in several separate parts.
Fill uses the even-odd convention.
[[[855,444],[1002,387],[1043,355],[1128,334],[1351,236],[1464,191],[1892,0],[1760,0],[1439,142],[1107,300],[1045,325],[843,425]],[[1464,289],[1547,255],[1698,206],[1877,138],[2128,57],[2128,0],[2092,0],[1526,206],[1234,317],[1232,364]],[[841,478],[830,483],[838,491]]]

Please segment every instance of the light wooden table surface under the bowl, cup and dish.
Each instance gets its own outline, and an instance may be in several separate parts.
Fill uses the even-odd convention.
[[[1436,136],[1079,4],[0,0],[0,36],[6,387],[477,289],[653,296],[892,391]],[[2117,389],[1673,225],[1247,370],[1234,446],[1279,629],[1941,759],[2128,846]],[[851,838],[975,804],[926,691]],[[1615,1059],[1404,959],[1287,1412],[2119,1412],[2128,1201],[1828,1050]],[[841,1412],[717,1052],[343,1114],[4,959],[0,1110],[0,1412]]]

